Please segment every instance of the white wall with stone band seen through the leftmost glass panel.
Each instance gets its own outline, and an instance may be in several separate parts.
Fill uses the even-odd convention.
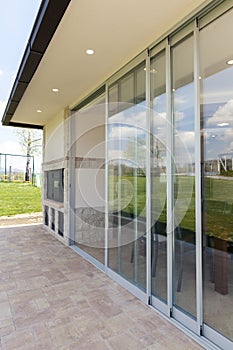
[[[104,207],[105,105],[75,113],[75,207]]]

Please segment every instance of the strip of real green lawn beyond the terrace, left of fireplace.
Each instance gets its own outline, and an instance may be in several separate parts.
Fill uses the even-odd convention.
[[[28,183],[0,182],[0,216],[41,212],[41,189]]]

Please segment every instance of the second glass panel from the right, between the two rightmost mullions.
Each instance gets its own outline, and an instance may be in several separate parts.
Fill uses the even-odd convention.
[[[193,37],[172,49],[174,305],[196,315]]]

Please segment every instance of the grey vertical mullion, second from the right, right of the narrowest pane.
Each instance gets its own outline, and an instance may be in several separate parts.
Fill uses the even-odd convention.
[[[168,316],[173,305],[173,186],[172,186],[172,95],[171,95],[171,52],[166,44],[166,95],[167,95],[167,304]]]

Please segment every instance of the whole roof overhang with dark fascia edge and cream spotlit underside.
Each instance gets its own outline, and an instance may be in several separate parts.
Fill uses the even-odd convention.
[[[42,128],[211,1],[43,0],[2,119]],[[87,56],[85,50],[95,54]],[[52,92],[58,88],[59,92]],[[41,113],[37,113],[41,110]]]

